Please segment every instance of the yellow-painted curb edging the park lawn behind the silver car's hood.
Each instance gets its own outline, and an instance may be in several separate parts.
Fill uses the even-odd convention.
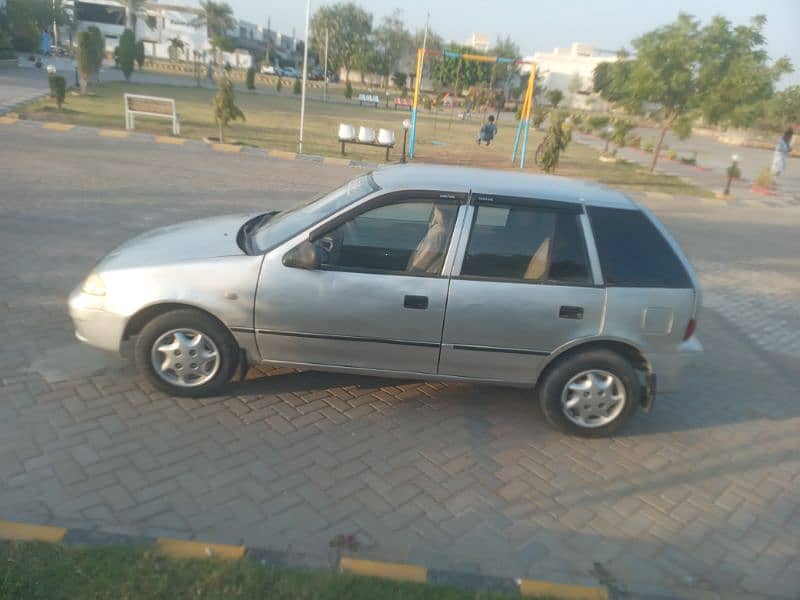
[[[226,154],[260,154],[265,157],[274,158],[277,160],[306,160],[325,165],[334,165],[341,167],[355,167],[359,169],[376,169],[378,163],[370,163],[356,159],[339,158],[335,156],[319,156],[316,154],[298,154],[297,152],[289,152],[287,150],[275,150],[268,148],[258,148],[254,146],[242,146],[238,144],[221,144],[204,143],[201,140],[193,140],[189,138],[174,137],[169,135],[155,135],[149,133],[136,133],[126,131],[124,129],[111,129],[107,127],[83,127],[72,125],[69,123],[59,123],[57,121],[34,121],[32,119],[21,119],[16,113],[7,113],[0,115],[0,125],[16,125],[18,123],[25,123],[28,126],[39,127],[48,131],[69,132],[73,130],[80,130],[92,132],[98,137],[114,138],[114,139],[136,139],[138,141],[154,144],[172,145],[172,146],[186,146],[194,145],[197,147],[203,146],[213,152],[222,152]],[[387,163],[392,164],[392,163]]]

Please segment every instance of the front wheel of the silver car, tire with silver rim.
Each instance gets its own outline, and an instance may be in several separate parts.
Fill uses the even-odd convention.
[[[139,334],[134,354],[148,381],[172,396],[213,395],[239,364],[239,347],[225,326],[193,309],[155,317]]]

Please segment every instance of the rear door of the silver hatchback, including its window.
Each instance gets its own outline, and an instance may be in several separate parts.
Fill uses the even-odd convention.
[[[536,381],[547,356],[600,330],[580,204],[473,196],[457,252],[439,373]]]

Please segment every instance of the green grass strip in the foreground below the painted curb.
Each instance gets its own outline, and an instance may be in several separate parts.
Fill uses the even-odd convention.
[[[0,542],[3,600],[501,600],[486,592],[397,583],[318,571],[262,567],[247,560],[175,560],[136,547],[74,548]]]

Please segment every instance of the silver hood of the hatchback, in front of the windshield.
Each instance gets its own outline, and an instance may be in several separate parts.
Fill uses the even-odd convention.
[[[228,215],[159,227],[113,250],[100,267],[118,269],[244,255],[236,234],[253,216]]]

